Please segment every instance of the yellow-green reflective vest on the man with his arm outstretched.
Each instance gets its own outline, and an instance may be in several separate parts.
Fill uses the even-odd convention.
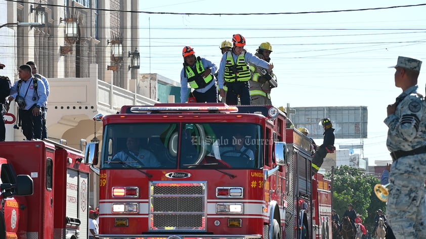
[[[234,57],[231,52],[226,53],[226,64],[224,79],[226,82],[234,81],[249,81],[251,79],[250,68],[244,59],[245,52],[239,55],[237,63],[234,62]]]

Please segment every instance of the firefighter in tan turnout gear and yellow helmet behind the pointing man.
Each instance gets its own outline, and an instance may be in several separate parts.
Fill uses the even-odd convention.
[[[256,51],[257,53],[254,56],[269,63],[271,62],[269,57],[272,53],[271,43],[263,42]],[[250,71],[253,73],[253,77],[250,80],[251,105],[272,105],[271,89],[277,85],[272,71],[257,67],[252,63],[250,63]]]

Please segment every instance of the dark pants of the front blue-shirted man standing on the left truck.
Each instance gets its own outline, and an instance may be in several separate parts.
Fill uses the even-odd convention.
[[[19,110],[19,118],[21,119],[22,124],[22,133],[28,140],[32,138],[41,139],[41,114],[34,116],[32,114],[32,109],[33,108],[30,108],[29,110]]]

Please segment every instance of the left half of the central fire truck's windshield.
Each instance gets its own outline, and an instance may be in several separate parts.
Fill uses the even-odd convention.
[[[177,156],[169,152],[177,124],[111,124],[105,128],[105,168],[176,168]]]

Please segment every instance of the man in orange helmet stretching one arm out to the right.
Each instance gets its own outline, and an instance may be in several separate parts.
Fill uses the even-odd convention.
[[[259,59],[244,50],[245,38],[241,34],[232,36],[232,49],[226,52],[221,60],[218,73],[219,90],[221,97],[225,97],[224,82],[228,87],[226,93],[226,104],[237,105],[238,96],[241,105],[250,105],[250,89],[248,81],[251,79],[251,72],[248,63],[268,69],[271,71],[274,66],[267,61]]]

